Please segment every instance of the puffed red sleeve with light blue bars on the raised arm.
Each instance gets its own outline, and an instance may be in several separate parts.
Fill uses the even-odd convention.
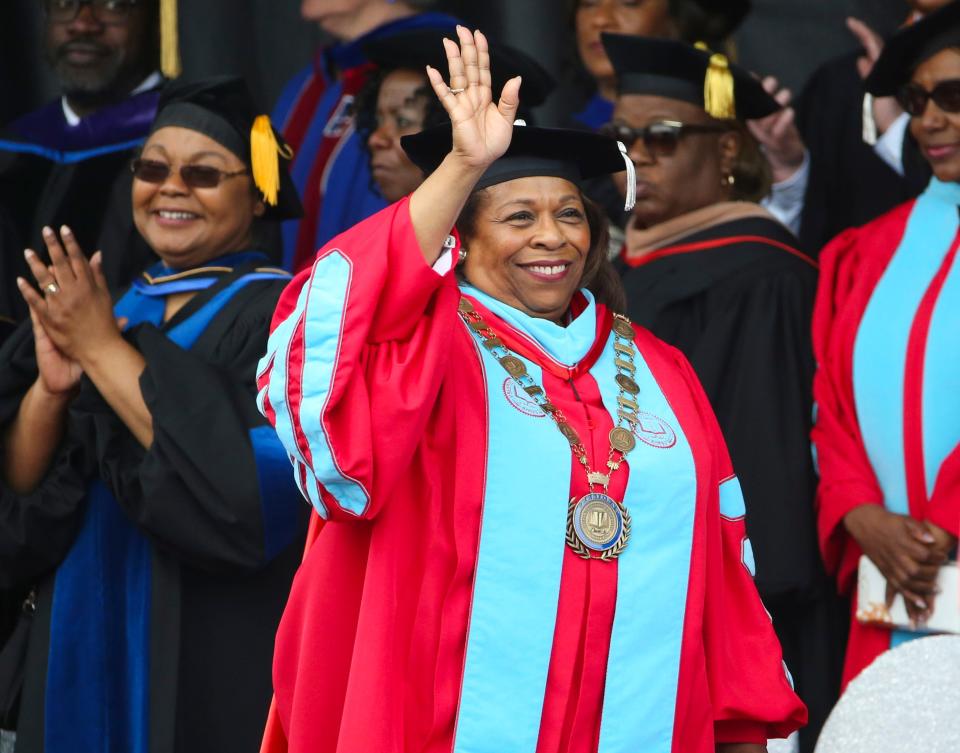
[[[456,248],[452,250],[456,253]],[[440,391],[459,293],[403,199],[334,238],[281,297],[258,402],[324,518],[376,515]]]

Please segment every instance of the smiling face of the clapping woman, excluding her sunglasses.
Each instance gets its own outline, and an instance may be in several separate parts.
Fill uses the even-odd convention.
[[[171,126],[150,136],[141,158],[171,168],[162,183],[133,181],[134,223],[168,266],[185,269],[249,248],[253,220],[265,210],[250,176],[225,178],[213,188],[191,188],[180,177],[183,165],[244,171],[237,155],[202,133]]]

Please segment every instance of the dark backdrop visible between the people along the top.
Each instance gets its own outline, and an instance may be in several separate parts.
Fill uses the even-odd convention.
[[[455,13],[503,41],[533,53],[555,70],[573,43],[567,0],[446,0]],[[40,54],[41,0],[0,0],[0,123],[56,94]],[[300,19],[298,0],[181,0],[187,73],[244,74],[266,105],[283,82],[310,60],[322,41]],[[737,35],[740,59],[797,89],[824,60],[856,47],[843,20],[856,15],[889,32],[906,16],[903,0],[754,0]],[[559,112],[559,92],[541,113]]]

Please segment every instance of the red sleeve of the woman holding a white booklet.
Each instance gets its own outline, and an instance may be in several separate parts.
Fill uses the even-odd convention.
[[[872,291],[860,277],[859,255],[869,238],[865,229],[848,230],[824,249],[813,312],[817,372],[812,439],[820,473],[817,528],[824,564],[837,577],[841,591],[852,585],[860,556],[843,518],[860,505],[883,503],[853,399],[853,344]]]

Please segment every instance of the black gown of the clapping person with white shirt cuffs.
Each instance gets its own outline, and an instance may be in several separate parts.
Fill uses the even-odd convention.
[[[909,130],[899,175],[863,141],[863,81],[858,54],[817,70],[797,102],[797,126],[810,152],[801,247],[818,255],[833,237],[920,194],[930,167]]]

